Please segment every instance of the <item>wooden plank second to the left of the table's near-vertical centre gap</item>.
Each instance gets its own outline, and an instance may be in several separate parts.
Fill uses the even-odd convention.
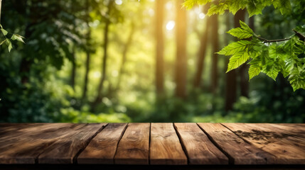
[[[78,164],[114,164],[114,154],[127,123],[111,123],[77,157]]]

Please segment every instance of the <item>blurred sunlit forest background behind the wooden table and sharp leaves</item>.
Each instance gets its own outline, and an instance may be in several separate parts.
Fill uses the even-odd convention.
[[[0,122],[304,123],[305,90],[217,55],[245,21],[285,38],[305,16],[273,6],[205,16],[183,0],[2,0],[1,25],[24,36],[0,53]],[[292,4],[293,5],[293,4]]]

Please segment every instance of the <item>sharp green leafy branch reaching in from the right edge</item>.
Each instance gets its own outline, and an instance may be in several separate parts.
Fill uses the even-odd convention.
[[[275,81],[281,72],[284,77],[288,77],[294,91],[305,89],[305,26],[295,28],[294,35],[279,40],[259,37],[242,21],[240,28],[232,28],[228,33],[241,40],[230,43],[218,52],[220,55],[232,56],[227,72],[251,60],[248,63],[250,79],[263,72]],[[245,38],[252,40],[242,40]]]

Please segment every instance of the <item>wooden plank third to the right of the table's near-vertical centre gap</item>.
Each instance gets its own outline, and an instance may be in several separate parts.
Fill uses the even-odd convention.
[[[274,156],[250,145],[220,123],[198,123],[232,164],[272,164]]]

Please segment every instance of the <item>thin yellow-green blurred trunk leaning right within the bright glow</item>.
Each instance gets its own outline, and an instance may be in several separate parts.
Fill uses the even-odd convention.
[[[133,21],[132,21],[131,25],[132,25],[131,26],[132,29],[130,30],[129,36],[127,38],[127,42],[124,45],[124,50],[123,50],[123,53],[122,53],[122,64],[121,64],[121,67],[119,67],[119,77],[117,79],[117,86],[116,86],[114,91],[119,90],[119,87],[120,87],[120,84],[121,84],[121,81],[122,81],[122,76],[123,76],[124,71],[125,71],[125,69],[124,69],[125,63],[127,62],[127,53],[128,53],[130,45],[132,45],[132,39],[134,37],[134,23],[133,23]]]

